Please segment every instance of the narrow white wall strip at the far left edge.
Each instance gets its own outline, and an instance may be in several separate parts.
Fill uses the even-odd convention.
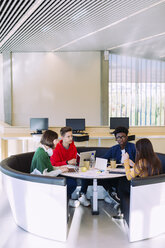
[[[3,56],[0,54],[0,121],[4,121]]]

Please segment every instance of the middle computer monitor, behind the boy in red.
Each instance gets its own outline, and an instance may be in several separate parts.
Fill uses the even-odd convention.
[[[73,132],[85,130],[85,119],[66,119],[66,126],[71,127]]]

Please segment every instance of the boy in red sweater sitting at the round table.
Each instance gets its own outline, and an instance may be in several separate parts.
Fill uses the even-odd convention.
[[[72,128],[62,127],[60,134],[61,140],[57,144],[53,151],[53,155],[50,158],[51,164],[55,167],[61,167],[62,165],[76,165],[77,149],[73,141]],[[82,187],[78,200],[83,206],[88,207],[90,202],[86,198],[88,187],[86,182],[85,179],[81,180]]]

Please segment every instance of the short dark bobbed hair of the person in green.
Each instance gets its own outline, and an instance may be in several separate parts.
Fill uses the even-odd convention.
[[[58,139],[58,134],[52,130],[46,130],[41,137],[41,144],[54,148],[53,141]]]

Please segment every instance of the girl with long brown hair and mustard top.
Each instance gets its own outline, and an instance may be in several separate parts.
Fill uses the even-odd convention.
[[[136,142],[135,164],[131,168],[129,154],[123,154],[126,178],[119,183],[121,212],[129,225],[130,180],[135,177],[159,175],[162,170],[161,162],[153,150],[149,139],[140,139]]]

